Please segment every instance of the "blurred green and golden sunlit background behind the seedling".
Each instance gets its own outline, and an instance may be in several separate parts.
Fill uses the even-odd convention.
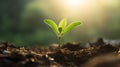
[[[0,0],[0,41],[16,45],[57,43],[43,20],[57,24],[81,21],[63,37],[66,42],[88,42],[94,38],[120,39],[120,0]]]

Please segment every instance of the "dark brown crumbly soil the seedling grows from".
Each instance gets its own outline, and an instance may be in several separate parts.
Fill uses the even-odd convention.
[[[120,67],[120,47],[103,39],[83,47],[67,43],[47,47],[16,47],[0,43],[0,67]]]

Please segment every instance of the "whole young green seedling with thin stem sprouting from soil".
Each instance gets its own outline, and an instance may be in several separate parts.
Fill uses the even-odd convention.
[[[67,19],[64,18],[60,21],[59,25],[57,25],[53,20],[51,19],[45,19],[44,22],[46,24],[48,24],[53,31],[56,33],[57,37],[58,37],[58,43],[59,43],[59,47],[61,45],[61,38],[64,34],[66,34],[67,32],[69,32],[70,30],[72,30],[74,27],[80,25],[80,22],[73,22],[70,23],[68,26],[67,25]]]

